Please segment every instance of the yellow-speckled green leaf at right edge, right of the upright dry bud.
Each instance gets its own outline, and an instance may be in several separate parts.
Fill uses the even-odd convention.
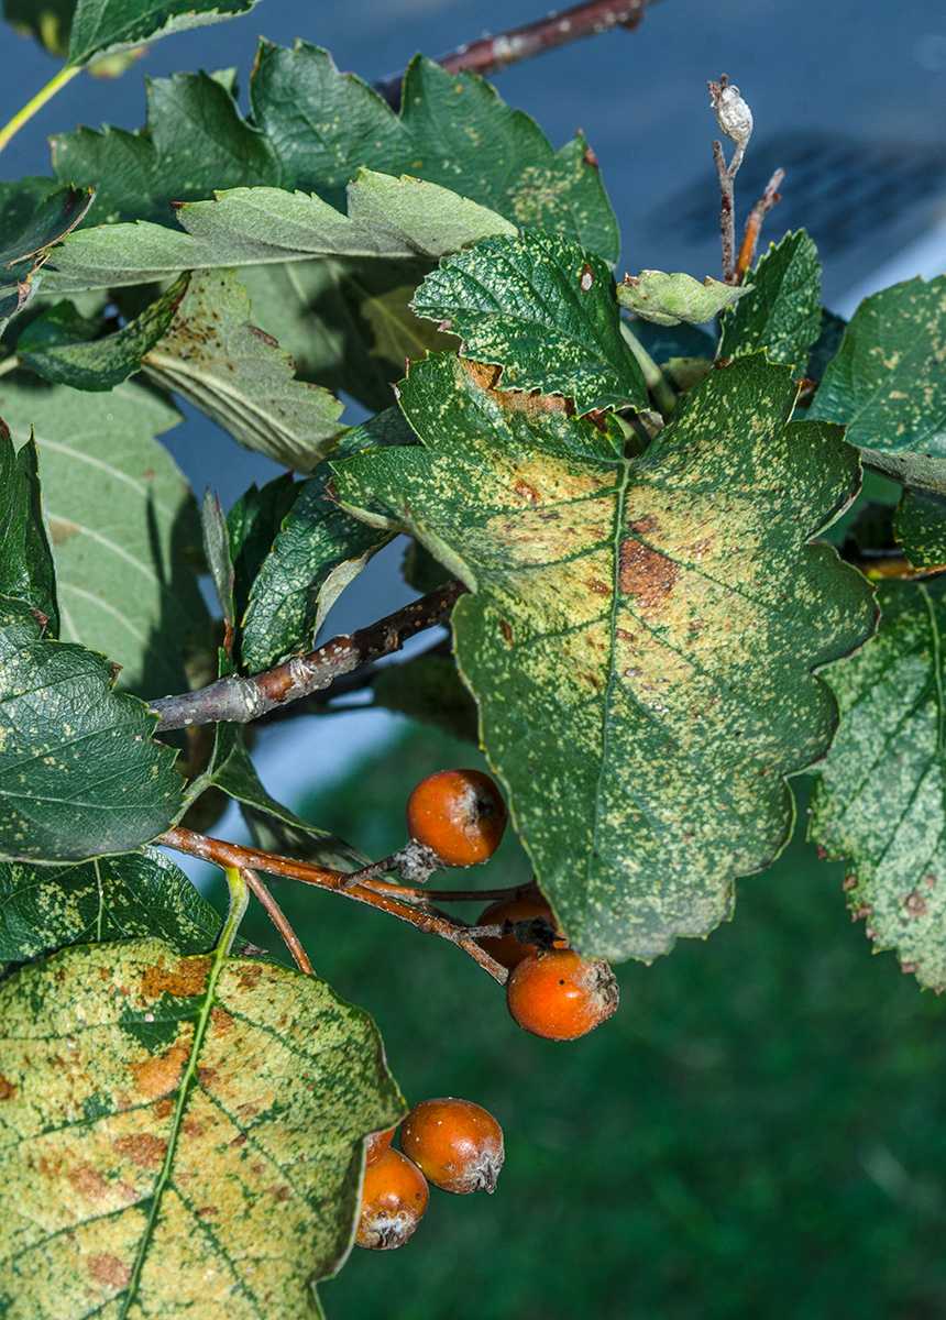
[[[946,275],[895,284],[854,313],[809,417],[844,422],[867,450],[946,458],[943,363]]]

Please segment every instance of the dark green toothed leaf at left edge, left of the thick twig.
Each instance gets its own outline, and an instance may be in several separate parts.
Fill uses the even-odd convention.
[[[112,689],[103,656],[46,640],[29,606],[0,602],[0,857],[78,862],[162,834],[183,780],[156,722]]]

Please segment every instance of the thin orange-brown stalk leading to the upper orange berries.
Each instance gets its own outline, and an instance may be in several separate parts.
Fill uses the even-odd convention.
[[[313,866],[310,862],[296,862],[288,857],[277,857],[274,853],[261,853],[255,847],[244,847],[240,843],[228,843],[220,838],[210,838],[207,834],[198,834],[197,830],[185,829],[181,825],[169,829],[166,834],[156,841],[165,847],[177,849],[190,857],[199,857],[205,862],[215,866],[235,867],[239,871],[264,871],[268,875],[281,875],[289,880],[301,880],[302,884],[317,884],[322,890],[334,894],[344,894],[346,898],[355,899],[356,903],[367,903],[369,907],[389,912],[401,921],[409,921],[425,935],[439,935],[470,954],[484,972],[488,972],[493,981],[505,985],[507,969],[491,958],[480,949],[476,941],[467,935],[470,927],[466,921],[458,921],[445,916],[442,912],[429,907],[412,907],[405,903],[400,894],[394,895],[389,890],[377,892],[368,886],[355,884],[346,887],[347,875],[344,871],[332,871],[327,867]],[[392,886],[396,890],[397,886]],[[425,896],[426,903],[426,896]],[[282,933],[282,932],[280,932]]]

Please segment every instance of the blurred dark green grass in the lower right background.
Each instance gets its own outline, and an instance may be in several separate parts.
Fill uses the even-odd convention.
[[[474,764],[405,723],[303,814],[383,857],[413,784]],[[355,1250],[319,1290],[329,1320],[946,1316],[945,1006],[871,957],[800,816],[731,924],[619,968],[615,1018],[565,1044],[520,1031],[443,941],[274,886],[319,975],[375,1016],[409,1102],[474,1100],[507,1142],[495,1196],[431,1189],[406,1247]],[[528,874],[507,838],[445,883]],[[276,950],[261,920],[247,935]]]

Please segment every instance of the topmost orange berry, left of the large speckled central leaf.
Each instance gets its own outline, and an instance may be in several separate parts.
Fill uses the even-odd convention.
[[[447,866],[476,866],[500,845],[508,813],[499,788],[479,770],[427,775],[408,799],[408,830]]]

